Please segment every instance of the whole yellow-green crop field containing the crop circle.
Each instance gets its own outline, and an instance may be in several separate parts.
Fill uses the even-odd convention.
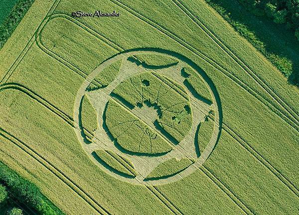
[[[34,0],[0,161],[65,215],[298,215],[299,89],[204,0]]]

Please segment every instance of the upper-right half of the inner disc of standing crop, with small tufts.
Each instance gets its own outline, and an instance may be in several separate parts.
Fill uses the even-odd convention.
[[[156,126],[180,142],[190,130],[192,114],[187,94],[182,86],[154,72],[133,76],[119,84],[114,94],[134,107],[149,103],[158,112]]]

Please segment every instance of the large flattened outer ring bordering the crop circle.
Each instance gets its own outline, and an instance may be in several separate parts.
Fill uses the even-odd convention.
[[[106,168],[103,168],[96,160],[95,158],[93,158],[93,156],[91,154],[88,154],[88,156],[95,162],[95,164],[99,167],[102,167],[102,170],[106,170],[105,172],[107,172],[108,174],[114,176],[115,178],[118,178],[122,181],[126,181],[126,182],[130,182],[130,183],[134,183],[134,184],[147,184],[147,185],[161,185],[161,184],[166,184],[166,183],[170,183],[170,182],[175,182],[183,177],[186,177],[187,175],[191,174],[192,172],[194,172],[196,169],[198,169],[200,166],[202,166],[202,164],[208,159],[208,157],[210,156],[210,154],[212,153],[214,147],[216,146],[219,138],[220,138],[220,134],[221,134],[221,127],[222,127],[222,107],[221,107],[221,102],[220,102],[220,97],[219,94],[216,90],[216,87],[214,86],[213,82],[211,81],[211,79],[206,75],[206,73],[199,67],[197,66],[193,61],[191,61],[190,59],[186,58],[185,56],[172,52],[172,51],[168,51],[168,50],[163,50],[163,49],[157,49],[157,48],[138,48],[138,49],[131,49],[131,50],[127,50],[124,52],[120,52],[110,58],[108,58],[107,60],[105,60],[104,62],[102,62],[93,72],[91,72],[88,77],[86,78],[86,80],[83,82],[83,84],[81,85],[81,87],[79,88],[77,95],[76,95],[76,99],[75,99],[75,104],[74,104],[74,131],[77,135],[78,140],[81,142],[82,147],[84,148],[84,140],[83,137],[81,135],[81,128],[79,126],[79,107],[80,106],[80,102],[82,97],[85,94],[85,90],[87,89],[87,87],[89,86],[89,84],[92,82],[92,80],[94,80],[94,78],[96,78],[96,76],[107,66],[109,66],[110,64],[112,64],[115,61],[118,61],[120,59],[124,59],[124,58],[128,58],[129,56],[132,55],[136,55],[136,54],[146,54],[146,53],[150,53],[150,54],[162,54],[162,55],[168,55],[171,56],[173,58],[176,58],[179,61],[182,61],[186,64],[188,64],[192,69],[194,69],[195,71],[197,71],[199,73],[199,75],[203,78],[203,80],[206,82],[206,84],[209,86],[209,90],[210,90],[210,94],[212,96],[213,99],[213,104],[215,104],[215,126],[214,126],[214,131],[213,131],[213,135],[214,140],[208,143],[208,145],[206,146],[206,148],[204,149],[203,153],[200,155],[200,157],[192,164],[190,165],[188,168],[186,168],[185,170],[183,170],[182,172],[174,175],[174,176],[170,176],[167,178],[163,178],[163,179],[159,179],[159,180],[152,180],[152,181],[139,181],[135,178],[126,178],[123,176],[120,176],[114,172],[108,171],[106,170]]]

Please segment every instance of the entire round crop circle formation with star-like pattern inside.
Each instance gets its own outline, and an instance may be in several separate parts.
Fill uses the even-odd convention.
[[[151,65],[150,56],[170,60]],[[117,62],[122,66],[115,77],[97,82]],[[97,83],[102,85],[91,88]],[[87,97],[97,114],[94,133],[82,120],[89,114],[83,111]],[[167,50],[135,49],[105,60],[88,75],[76,96],[74,123],[78,140],[102,170],[126,182],[157,185],[189,175],[208,159],[220,137],[222,111],[214,84],[190,59]]]

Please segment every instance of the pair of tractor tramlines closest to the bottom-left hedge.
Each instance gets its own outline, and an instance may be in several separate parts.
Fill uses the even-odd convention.
[[[18,146],[21,150],[26,152],[29,156],[38,161],[41,165],[43,165],[46,169],[52,172],[57,178],[59,178],[64,184],[66,184],[69,188],[71,188],[77,195],[79,195],[82,199],[86,201],[94,210],[96,210],[101,215],[110,215],[108,211],[106,211],[95,199],[93,199],[89,194],[84,192],[78,185],[76,185],[70,178],[65,176],[62,171],[54,167],[50,162],[40,156],[37,152],[35,152],[30,146],[21,142],[16,137],[10,135],[5,130],[0,128],[0,135],[7,140],[11,141],[13,144]]]

